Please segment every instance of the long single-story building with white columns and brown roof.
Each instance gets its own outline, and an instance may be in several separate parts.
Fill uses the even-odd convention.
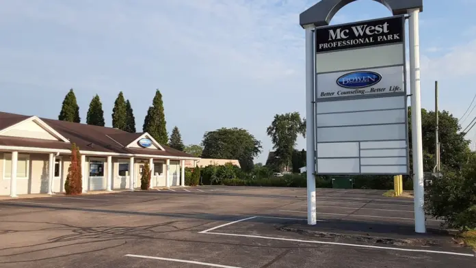
[[[79,146],[83,191],[134,189],[146,162],[151,187],[184,185],[193,157],[148,133],[0,112],[0,195],[64,191],[72,143]]]

